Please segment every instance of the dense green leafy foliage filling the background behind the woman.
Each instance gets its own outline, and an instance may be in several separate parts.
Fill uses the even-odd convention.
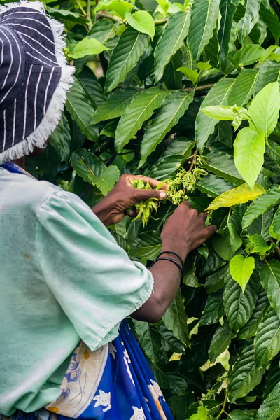
[[[120,173],[171,180],[147,225],[126,216],[111,227],[147,265],[181,200],[207,209],[218,232],[189,255],[162,322],[134,328],[176,420],[276,419],[279,3],[158,0],[154,12],[141,0],[45,3],[66,25],[76,76],[48,148],[27,169],[90,206]]]

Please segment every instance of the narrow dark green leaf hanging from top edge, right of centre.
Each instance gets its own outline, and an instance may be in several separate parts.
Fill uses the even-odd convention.
[[[231,2],[231,0],[221,0],[221,27],[218,31],[218,43],[220,45],[219,57],[221,60],[228,56],[230,30],[232,29],[232,21],[235,10],[236,6]]]

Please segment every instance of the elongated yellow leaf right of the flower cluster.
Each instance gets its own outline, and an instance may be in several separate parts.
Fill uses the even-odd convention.
[[[207,210],[216,210],[220,207],[232,207],[235,204],[246,203],[255,200],[259,195],[265,193],[265,188],[255,184],[254,190],[248,186],[247,183],[233,188],[233,190],[225,191],[225,193],[218,195],[207,207]]]

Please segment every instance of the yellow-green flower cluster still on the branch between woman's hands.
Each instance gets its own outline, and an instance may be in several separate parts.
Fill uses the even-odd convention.
[[[179,206],[181,202],[188,200],[188,195],[193,193],[197,182],[207,174],[208,172],[200,167],[195,167],[191,172],[179,167],[176,177],[166,181],[167,197],[173,204]]]

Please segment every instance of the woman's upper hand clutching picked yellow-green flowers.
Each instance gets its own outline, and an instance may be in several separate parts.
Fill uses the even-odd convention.
[[[162,186],[162,190],[139,190],[138,188],[132,187],[130,183],[134,179],[142,179],[144,182],[148,181],[152,188],[157,188],[160,183],[160,181],[156,181],[148,176],[130,174],[120,176],[120,181],[116,183],[113,190],[92,209],[104,225],[109,226],[114,223],[119,223],[123,220],[125,214],[136,216],[133,210],[127,213],[126,211],[141,200],[148,200],[152,197],[158,198],[158,200],[164,200],[166,198],[165,186]]]

